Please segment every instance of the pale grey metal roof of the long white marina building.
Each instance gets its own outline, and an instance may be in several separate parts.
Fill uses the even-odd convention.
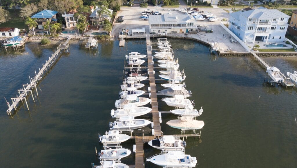
[[[188,20],[196,22],[194,17],[187,13],[149,15],[149,24],[186,24]]]

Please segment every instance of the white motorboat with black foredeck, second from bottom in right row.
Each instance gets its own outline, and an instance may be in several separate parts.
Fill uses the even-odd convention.
[[[183,151],[184,147],[186,147],[186,142],[176,139],[172,135],[163,135],[159,139],[149,141],[149,145],[164,151]]]

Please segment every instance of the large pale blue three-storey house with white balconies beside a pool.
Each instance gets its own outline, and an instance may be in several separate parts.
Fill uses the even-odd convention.
[[[258,9],[230,14],[229,29],[245,43],[284,41],[290,16],[277,9]]]

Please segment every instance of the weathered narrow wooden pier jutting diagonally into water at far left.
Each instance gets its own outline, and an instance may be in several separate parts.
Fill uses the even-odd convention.
[[[27,109],[29,110],[29,106],[28,106],[28,103],[27,103],[27,100],[26,100],[26,97],[28,96],[28,92],[31,93],[32,95],[32,99],[33,101],[35,102],[34,100],[34,97],[33,97],[33,89],[35,89],[36,91],[36,95],[38,96],[38,92],[37,92],[37,89],[36,89],[36,86],[38,84],[38,81],[40,81],[42,79],[42,77],[45,76],[46,72],[48,70],[50,70],[50,68],[54,65],[54,63],[57,62],[57,60],[59,59],[59,57],[61,56],[61,49],[66,49],[67,52],[68,52],[68,49],[69,49],[69,41],[70,41],[70,38],[67,39],[67,41],[64,42],[64,44],[60,44],[59,47],[57,47],[57,50],[55,50],[55,52],[52,54],[51,57],[48,57],[48,60],[45,60],[45,64],[42,64],[42,68],[39,69],[39,72],[36,73],[36,70],[35,70],[35,76],[33,78],[31,78],[29,76],[29,80],[30,80],[30,83],[28,84],[23,84],[23,88],[22,89],[19,89],[18,90],[18,93],[19,93],[19,96],[17,95],[17,97],[12,97],[11,100],[12,100],[12,104],[10,105],[10,103],[7,102],[7,105],[8,105],[8,109],[7,109],[7,114],[8,115],[11,115],[11,111],[13,109],[15,109],[15,111],[17,110],[17,107],[18,107],[18,103],[23,102],[25,101],[26,103],[26,107]]]

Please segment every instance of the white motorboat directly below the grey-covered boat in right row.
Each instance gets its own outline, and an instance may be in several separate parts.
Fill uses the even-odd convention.
[[[166,97],[162,100],[170,107],[179,107],[179,108],[185,108],[187,105],[193,103],[191,100],[186,99],[182,95],[175,95],[174,97]]]

